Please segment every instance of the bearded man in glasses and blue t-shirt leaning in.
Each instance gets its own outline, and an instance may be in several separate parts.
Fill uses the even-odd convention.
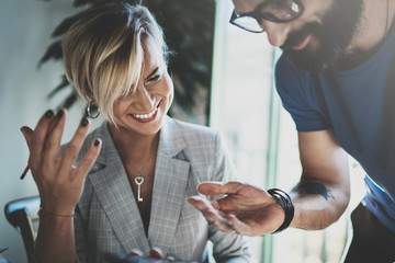
[[[350,199],[348,156],[364,169],[366,195],[351,215],[345,262],[395,260],[394,0],[233,0],[230,23],[267,32],[283,54],[275,83],[292,115],[303,168],[284,191],[203,183],[190,203],[224,231],[259,236],[324,229]]]

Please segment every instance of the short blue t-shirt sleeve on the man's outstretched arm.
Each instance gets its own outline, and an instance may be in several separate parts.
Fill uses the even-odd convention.
[[[275,65],[275,88],[297,132],[328,129],[328,122],[317,111],[317,93],[313,92],[312,78],[308,76],[298,72],[282,55]]]

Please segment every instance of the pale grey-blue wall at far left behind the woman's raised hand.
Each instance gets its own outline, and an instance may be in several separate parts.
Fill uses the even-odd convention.
[[[20,235],[4,217],[4,204],[37,194],[30,173],[25,180],[19,179],[29,157],[20,128],[33,128],[63,98],[46,99],[60,80],[61,64],[46,62],[40,70],[36,65],[52,43],[55,26],[76,11],[71,0],[0,1],[0,248],[9,247],[3,256],[10,262],[23,263],[26,256]],[[78,106],[69,112],[64,141],[71,137],[80,117]]]

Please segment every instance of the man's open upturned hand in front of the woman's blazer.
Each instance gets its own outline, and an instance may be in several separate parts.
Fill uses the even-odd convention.
[[[206,220],[224,232],[245,236],[274,232],[285,215],[275,198],[264,190],[239,182],[201,183],[198,191],[207,196],[226,195],[216,201],[191,196],[189,203],[200,209]]]

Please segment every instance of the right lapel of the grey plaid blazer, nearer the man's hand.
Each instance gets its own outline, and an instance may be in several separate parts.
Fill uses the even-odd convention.
[[[184,148],[187,142],[182,134],[174,122],[167,117],[160,130],[148,229],[150,245],[160,248],[165,254],[171,244],[185,202],[190,162],[176,157]]]

